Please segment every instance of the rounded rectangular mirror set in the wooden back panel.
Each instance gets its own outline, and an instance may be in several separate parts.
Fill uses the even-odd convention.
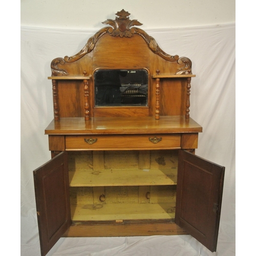
[[[147,106],[148,72],[145,69],[96,70],[95,106]]]

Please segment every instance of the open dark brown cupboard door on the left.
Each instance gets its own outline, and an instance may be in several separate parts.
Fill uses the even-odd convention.
[[[45,256],[71,225],[67,152],[33,174],[41,255]]]

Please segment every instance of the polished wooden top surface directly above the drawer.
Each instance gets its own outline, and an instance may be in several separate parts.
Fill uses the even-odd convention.
[[[202,126],[185,116],[146,117],[83,117],[60,118],[52,121],[45,134],[156,134],[156,133],[200,133]]]

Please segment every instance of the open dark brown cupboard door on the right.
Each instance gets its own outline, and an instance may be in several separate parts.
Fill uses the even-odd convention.
[[[225,167],[180,151],[175,222],[216,251]]]

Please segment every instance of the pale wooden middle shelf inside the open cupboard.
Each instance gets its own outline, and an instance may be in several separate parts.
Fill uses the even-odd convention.
[[[104,169],[69,172],[70,186],[176,185],[177,168]]]

